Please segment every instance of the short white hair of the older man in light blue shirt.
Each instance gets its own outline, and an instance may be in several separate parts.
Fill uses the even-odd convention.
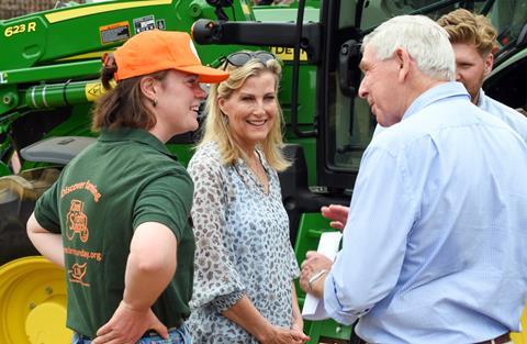
[[[362,49],[369,45],[377,58],[393,56],[404,48],[424,74],[441,80],[456,79],[456,57],[448,33],[425,15],[392,18],[365,36]]]

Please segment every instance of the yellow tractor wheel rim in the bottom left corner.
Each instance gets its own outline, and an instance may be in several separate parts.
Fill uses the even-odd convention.
[[[64,270],[42,256],[0,267],[0,343],[68,344]]]

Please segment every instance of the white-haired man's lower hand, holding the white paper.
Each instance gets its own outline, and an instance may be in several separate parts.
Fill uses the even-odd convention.
[[[305,260],[302,263],[302,273],[300,274],[300,287],[302,290],[321,299],[324,296],[324,281],[327,273],[313,281],[311,286],[310,279],[322,270],[329,271],[332,265],[332,259],[325,255],[309,251],[305,255]]]

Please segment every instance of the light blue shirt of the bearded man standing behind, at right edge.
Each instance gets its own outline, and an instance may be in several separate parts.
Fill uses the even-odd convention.
[[[478,107],[500,118],[527,142],[527,118],[525,115],[486,96],[482,89],[480,89]]]

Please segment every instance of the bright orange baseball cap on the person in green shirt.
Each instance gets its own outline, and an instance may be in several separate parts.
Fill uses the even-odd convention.
[[[203,66],[186,32],[150,30],[136,34],[113,54],[117,64],[115,81],[166,69],[199,76],[200,82],[215,84],[228,73]]]

